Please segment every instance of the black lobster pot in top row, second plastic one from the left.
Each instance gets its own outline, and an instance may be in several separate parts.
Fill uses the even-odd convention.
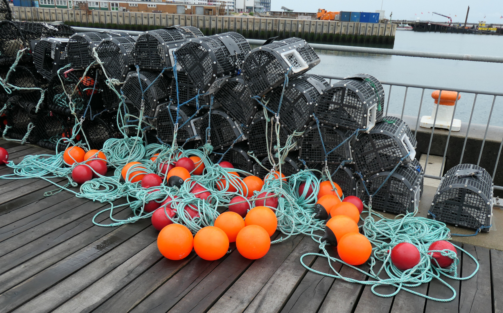
[[[67,45],[68,61],[74,68],[87,68],[95,59],[93,57],[93,48],[106,38],[124,37],[122,32],[107,33],[76,33],[70,37]]]

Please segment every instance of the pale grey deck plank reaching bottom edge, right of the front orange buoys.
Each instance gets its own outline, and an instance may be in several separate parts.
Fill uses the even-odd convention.
[[[305,253],[318,252],[319,244],[310,236],[304,236],[286,260],[268,280],[259,294],[251,301],[245,312],[279,312],[288,301],[295,287],[307,273],[307,269],[299,261]],[[315,257],[304,258],[304,263],[311,266]]]

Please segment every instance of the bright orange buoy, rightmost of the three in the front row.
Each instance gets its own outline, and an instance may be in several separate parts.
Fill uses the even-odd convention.
[[[260,259],[271,247],[271,238],[267,231],[258,225],[249,225],[236,236],[236,248],[247,259]]]

